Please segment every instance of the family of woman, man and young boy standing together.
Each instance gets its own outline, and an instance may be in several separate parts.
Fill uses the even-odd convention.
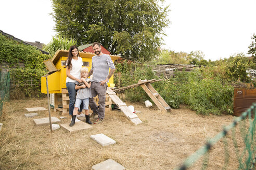
[[[72,117],[70,126],[75,124],[76,115],[82,109],[85,110],[86,123],[92,124],[89,118],[89,107],[93,111],[91,117],[97,118],[94,124],[100,123],[105,118],[107,83],[116,68],[110,56],[101,52],[99,43],[93,43],[92,47],[96,55],[92,58],[92,68],[89,72],[87,67],[82,67],[83,61],[79,56],[78,47],[69,48],[66,61],[66,86],[69,92],[69,115]],[[88,79],[91,75],[93,75],[92,81]],[[99,107],[93,99],[97,95]]]

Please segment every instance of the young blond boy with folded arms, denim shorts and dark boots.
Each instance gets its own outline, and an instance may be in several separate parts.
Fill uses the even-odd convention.
[[[89,79],[86,78],[87,75],[88,75],[88,68],[82,67],[81,80],[84,82],[84,84],[82,84],[81,86],[78,86],[81,83],[79,83],[78,81],[75,82],[75,90],[78,90],[78,92],[76,93],[73,115],[78,114],[78,109],[83,101],[83,109],[85,110],[85,119],[86,119],[85,122],[88,124],[93,124],[89,118],[89,97],[92,97],[92,94],[91,94],[91,81],[88,81]]]

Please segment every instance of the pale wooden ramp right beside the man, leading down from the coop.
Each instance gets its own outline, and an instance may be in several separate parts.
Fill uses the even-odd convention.
[[[136,114],[134,114],[124,102],[120,100],[120,98],[113,92],[110,88],[107,88],[107,94],[111,98],[111,100],[118,105],[118,107],[122,110],[124,115],[130,119],[134,124],[140,124],[142,121],[138,118]]]

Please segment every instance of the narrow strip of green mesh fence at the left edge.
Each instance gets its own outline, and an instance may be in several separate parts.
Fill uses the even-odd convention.
[[[0,73],[0,116],[2,116],[4,102],[10,100],[10,74]]]

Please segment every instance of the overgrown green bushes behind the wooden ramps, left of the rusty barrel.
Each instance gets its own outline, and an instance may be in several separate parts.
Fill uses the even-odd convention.
[[[137,83],[138,79],[159,79],[147,65],[124,61],[116,66],[116,75],[119,77],[115,77],[114,80],[118,88]],[[225,75],[222,75],[223,68],[213,72],[214,69],[216,67],[201,68],[193,72],[177,72],[174,78],[154,82],[152,86],[172,108],[187,104],[199,114],[232,114],[234,88],[229,85],[230,82]],[[125,90],[125,96],[130,101],[149,100],[149,96],[140,87]]]

